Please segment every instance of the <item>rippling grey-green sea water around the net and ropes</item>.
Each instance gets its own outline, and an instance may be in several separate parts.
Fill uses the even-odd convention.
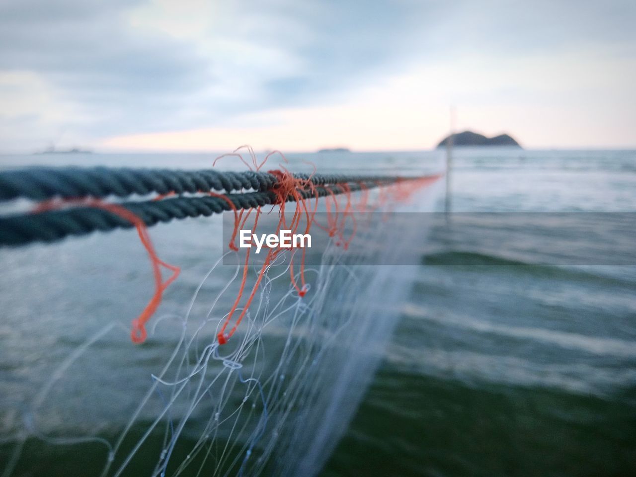
[[[415,168],[429,156],[352,154],[321,165]],[[135,160],[170,167],[176,158]],[[207,160],[193,156],[189,167]],[[118,161],[130,158],[109,158]],[[466,149],[457,151],[456,164],[458,211],[636,211],[634,151]],[[207,270],[200,256],[217,247],[209,237],[218,224],[180,227],[153,233],[168,261],[194,277],[177,281],[165,312],[181,311]],[[148,289],[145,273],[130,272],[147,266],[127,254],[133,235],[67,241],[53,254],[39,245],[0,251],[0,462],[13,445],[2,440],[11,409],[100,322],[130,315],[122,296]],[[585,245],[586,237],[574,239]],[[423,265],[380,371],[322,475],[636,475],[636,266],[552,266],[541,250],[515,255],[471,237],[450,249],[428,245],[439,246],[423,246]],[[95,247],[102,251],[97,260]],[[124,278],[111,283],[111,276]],[[127,415],[149,384],[135,368],[159,363],[170,349],[160,340],[153,346],[141,362],[116,342],[100,359],[86,357],[75,394],[59,401],[60,414],[48,424],[115,436],[121,423],[113,417]],[[99,403],[78,397],[95,387]],[[144,452],[160,452],[160,439],[151,436]],[[191,447],[188,439],[176,457]],[[106,458],[103,448],[38,439],[27,441],[25,455],[14,475],[91,475]],[[125,475],[149,474],[139,457]]]

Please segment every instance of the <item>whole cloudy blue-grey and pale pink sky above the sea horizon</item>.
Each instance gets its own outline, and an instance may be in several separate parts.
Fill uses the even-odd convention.
[[[0,151],[636,147],[633,0],[0,0]]]

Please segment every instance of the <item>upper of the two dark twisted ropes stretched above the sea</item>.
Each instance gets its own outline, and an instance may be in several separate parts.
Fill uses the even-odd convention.
[[[308,179],[309,174],[294,174]],[[394,181],[388,176],[314,174],[317,186],[338,183]],[[0,202],[15,198],[46,200],[54,197],[128,197],[151,193],[196,193],[240,190],[271,190],[277,177],[267,172],[221,172],[218,170],[110,169],[107,167],[32,167],[0,171]]]

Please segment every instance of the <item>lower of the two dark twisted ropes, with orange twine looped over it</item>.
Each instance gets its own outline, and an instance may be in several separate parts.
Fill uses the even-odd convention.
[[[95,169],[92,169],[93,171]],[[40,169],[41,171],[41,169]],[[226,174],[226,173],[223,173]],[[232,177],[264,177],[256,173],[236,174]],[[56,176],[58,179],[60,176]],[[272,176],[273,177],[273,176]],[[333,180],[338,176],[323,176]],[[237,179],[238,180],[238,179]],[[254,179],[258,181],[259,179]],[[349,191],[359,191],[362,188],[371,189],[380,185],[395,183],[402,179],[374,177],[373,181],[359,183],[331,184],[315,187],[319,197],[342,194]],[[315,181],[313,176],[312,181]],[[52,183],[52,181],[49,181]],[[260,184],[260,183],[259,183]],[[259,186],[260,187],[260,186]],[[194,187],[198,190],[199,186]],[[174,184],[169,186],[174,190]],[[37,187],[32,191],[38,190]],[[51,191],[52,189],[48,189]],[[70,191],[71,189],[69,189]],[[304,198],[315,197],[312,190],[301,190]],[[71,195],[76,195],[73,190]],[[6,196],[4,196],[6,197]],[[36,197],[36,193],[31,197]],[[257,191],[226,195],[237,209],[251,209],[263,205],[273,205],[278,202],[278,196],[272,191]],[[294,200],[290,195],[287,202]],[[230,204],[222,197],[176,197],[163,200],[148,200],[145,202],[124,202],[118,204],[139,217],[147,226],[159,222],[169,222],[172,219],[187,217],[211,216],[224,211],[232,211]],[[132,228],[134,225],[113,212],[98,207],[71,207],[57,211],[46,211],[31,214],[0,217],[0,245],[24,245],[31,242],[54,242],[69,235],[86,235],[95,230],[107,231],[116,228]]]

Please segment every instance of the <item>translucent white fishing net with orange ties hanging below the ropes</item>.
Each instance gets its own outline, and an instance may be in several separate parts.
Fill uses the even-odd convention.
[[[135,223],[153,265],[153,300],[132,331],[130,316],[111,317],[24,402],[5,403],[1,475],[71,469],[102,476],[311,476],[321,469],[410,293],[416,267],[392,263],[420,259],[422,222],[393,219],[431,211],[437,183],[429,177],[373,189],[349,184],[337,197],[333,189],[321,198],[310,179],[277,174],[277,204],[226,212],[225,238],[218,228],[210,238],[223,241],[222,254],[180,312],[162,313],[162,294],[172,282],[194,278],[182,271],[177,279],[179,269],[158,257],[148,231]],[[286,203],[298,190],[305,197]],[[126,214],[104,202],[90,207]],[[239,250],[239,229],[265,228],[267,219],[279,230],[321,236],[320,253]],[[131,335],[144,344],[132,345]],[[109,366],[105,349],[118,349],[125,366],[97,371]],[[122,382],[129,399],[113,391]],[[97,414],[113,416],[113,423],[93,419]],[[66,470],[55,468],[62,465]]]

